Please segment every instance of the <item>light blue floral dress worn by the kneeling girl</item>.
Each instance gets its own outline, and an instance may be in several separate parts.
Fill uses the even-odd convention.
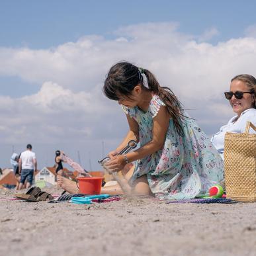
[[[124,112],[138,122],[141,147],[152,139],[153,118],[161,106],[165,103],[157,95],[153,95],[147,112],[122,106]],[[224,163],[209,138],[193,119],[184,118],[182,122],[184,136],[177,133],[170,118],[163,148],[136,161],[130,185],[146,175],[155,196],[181,200],[206,194],[210,187],[224,179]]]

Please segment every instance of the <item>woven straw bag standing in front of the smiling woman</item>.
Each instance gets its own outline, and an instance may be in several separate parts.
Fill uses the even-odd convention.
[[[256,134],[247,122],[244,134],[227,132],[224,144],[224,169],[227,198],[243,202],[256,201]]]

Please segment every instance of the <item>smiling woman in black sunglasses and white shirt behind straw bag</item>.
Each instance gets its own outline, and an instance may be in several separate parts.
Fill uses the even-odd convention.
[[[247,121],[256,125],[256,79],[252,75],[237,75],[231,80],[230,91],[224,93],[237,114],[220,132],[212,136],[212,144],[223,158],[226,132],[243,133]]]

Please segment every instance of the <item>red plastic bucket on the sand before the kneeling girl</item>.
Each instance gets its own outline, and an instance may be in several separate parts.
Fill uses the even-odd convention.
[[[101,194],[103,177],[80,177],[77,178],[79,191],[83,194]]]

